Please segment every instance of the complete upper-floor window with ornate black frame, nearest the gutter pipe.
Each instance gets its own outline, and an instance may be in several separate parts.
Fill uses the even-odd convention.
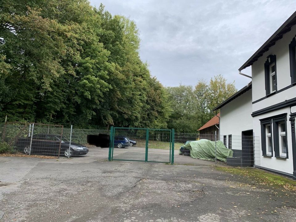
[[[277,64],[276,56],[269,55],[264,64],[265,67],[265,91],[269,95],[277,91]]]

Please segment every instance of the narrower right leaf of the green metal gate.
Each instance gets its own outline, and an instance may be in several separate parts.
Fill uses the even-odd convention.
[[[148,162],[171,162],[171,130],[148,130]]]

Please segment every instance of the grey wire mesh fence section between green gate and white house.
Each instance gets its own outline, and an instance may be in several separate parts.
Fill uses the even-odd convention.
[[[253,135],[177,135],[175,163],[233,167],[253,167],[255,162],[260,164],[259,138]],[[177,142],[184,143],[180,146]]]

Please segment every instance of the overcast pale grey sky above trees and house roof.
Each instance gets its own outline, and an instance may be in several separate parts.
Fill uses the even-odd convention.
[[[164,86],[195,85],[221,74],[243,88],[238,74],[255,51],[296,10],[295,0],[90,0],[134,20],[141,60]],[[251,68],[242,71],[251,75]]]

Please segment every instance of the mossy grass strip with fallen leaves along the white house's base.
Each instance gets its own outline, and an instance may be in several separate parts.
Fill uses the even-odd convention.
[[[279,187],[288,191],[296,192],[296,181],[284,176],[276,175],[260,169],[254,168],[233,168],[216,167],[217,170],[225,171],[231,174],[243,176],[248,181],[260,184],[264,187]]]

